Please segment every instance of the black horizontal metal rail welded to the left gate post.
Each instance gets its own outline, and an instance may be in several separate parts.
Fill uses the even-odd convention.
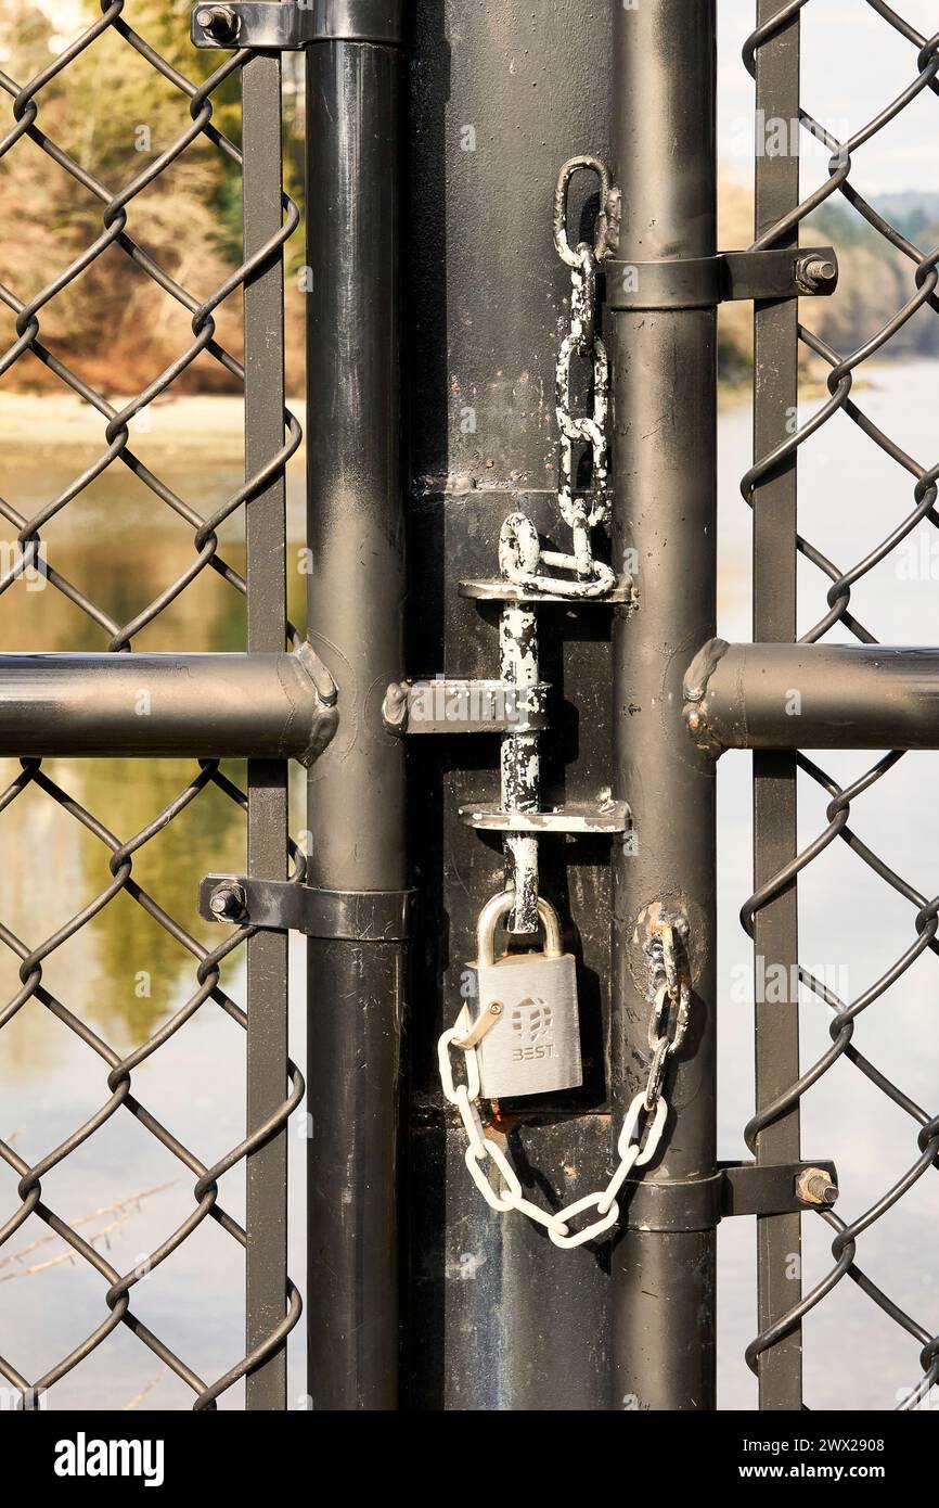
[[[202,756],[312,765],[336,688],[295,654],[0,654],[2,756]]]

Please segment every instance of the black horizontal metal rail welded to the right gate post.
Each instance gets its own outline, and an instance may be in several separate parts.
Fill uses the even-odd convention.
[[[699,748],[937,749],[939,648],[882,644],[725,644],[684,679]]]

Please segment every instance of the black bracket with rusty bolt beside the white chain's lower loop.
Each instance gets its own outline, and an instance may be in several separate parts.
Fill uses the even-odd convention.
[[[829,1161],[719,1163],[713,1178],[627,1179],[625,1224],[635,1231],[710,1231],[729,1215],[784,1215],[830,1208],[838,1175]]]

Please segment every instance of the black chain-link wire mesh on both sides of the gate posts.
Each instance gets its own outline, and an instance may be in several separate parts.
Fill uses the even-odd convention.
[[[799,549],[806,561],[817,567],[827,579],[826,611],[818,621],[803,635],[805,641],[818,641],[835,629],[846,629],[862,642],[877,642],[873,632],[859,621],[852,609],[852,588],[870,575],[892,550],[895,550],[922,522],[939,528],[939,513],[936,511],[939,464],[924,466],[897,443],[880,425],[864,412],[864,406],[853,397],[855,375],[859,368],[880,353],[904,326],[922,308],[939,312],[936,288],[939,285],[939,249],[922,250],[901,234],[891,222],[879,213],[852,182],[855,157],[870,142],[885,131],[892,121],[921,93],[931,90],[939,93],[939,36],[925,38],[915,27],[906,23],[897,11],[882,3],[882,0],[865,0],[886,27],[891,27],[910,45],[912,77],[909,86],[894,100],[885,103],[883,109],[850,139],[838,140],[830,130],[808,110],[800,112],[802,125],[818,140],[823,140],[832,152],[829,176],[817,190],[803,199],[797,208],[781,219],[758,246],[772,246],[797,228],[830,196],[840,195],[889,246],[906,256],[913,268],[915,291],[906,303],[897,309],[879,330],[856,350],[843,354],[830,344],[802,327],[800,338],[815,357],[829,366],[827,388],[829,398],[812,418],[803,424],[791,437],[770,454],[763,455],[743,480],[743,495],[752,502],[758,484],[772,477],[781,464],[799,452],[812,437],[827,425],[837,415],[846,415],[858,428],[873,440],[885,455],[892,458],[912,478],[912,508],[889,532],[876,549],[868,550],[855,564],[835,564],[809,540],[800,538]],[[773,41],[794,15],[808,5],[808,0],[793,0],[775,20],[757,30],[746,47],[745,60],[751,71],[760,48]],[[136,452],[131,445],[131,425],[167,391],[197,360],[208,360],[234,379],[244,382],[244,366],[220,341],[217,332],[216,311],[240,290],[259,270],[270,265],[271,258],[282,253],[282,247],[298,223],[298,211],[292,201],[283,199],[283,225],[276,237],[255,252],[250,259],[231,271],[217,287],[203,297],[193,294],[179,277],[167,271],[164,265],[146,249],[146,237],[134,229],[134,208],[145,190],[163,173],[172,173],[181,163],[187,151],[196,143],[208,143],[213,151],[222,154],[238,167],[243,166],[241,148],[223,133],[213,121],[213,97],[223,84],[237,78],[238,72],[249,62],[249,51],[238,51],[225,57],[222,65],[205,80],[193,81],[185,77],[172,62],[169,62],[143,35],[125,18],[133,6],[127,0],[102,0],[101,17],[93,21],[74,42],[63,47],[39,72],[32,78],[14,77],[0,71],[0,87],[8,97],[12,124],[0,139],[0,160],[11,158],[12,154],[39,152],[45,164],[51,164],[57,173],[66,175],[99,207],[101,229],[81,250],[66,259],[56,274],[45,285],[24,296],[14,287],[0,284],[0,302],[9,312],[14,338],[0,357],[0,375],[23,372],[30,363],[41,363],[65,391],[69,391],[101,418],[102,448],[98,457],[84,466],[69,484],[59,490],[56,496],[44,501],[38,508],[24,508],[15,499],[0,498],[0,513],[17,532],[17,555],[6,564],[0,576],[0,594],[12,591],[29,573],[41,573],[42,579],[59,593],[83,615],[87,636],[75,648],[107,647],[115,653],[133,653],[134,638],[149,629],[160,615],[170,608],[193,584],[205,573],[213,573],[234,594],[244,596],[247,582],[244,573],[237,570],[220,549],[219,531],[240,508],[250,507],[273,478],[283,472],[288,458],[300,445],[300,428],[295,419],[285,413],[285,442],[282,448],[271,454],[267,463],[259,467],[246,483],[208,514],[197,511],[173,487],[161,478]],[[178,134],[158,154],[152,155],[146,166],[118,188],[109,187],[72,152],[59,145],[53,136],[47,134],[42,125],[44,97],[51,98],[68,92],[68,69],[93,54],[96,45],[106,39],[113,45],[116,39],[133,51],[140,63],[152,71],[173,95],[178,97]],[[53,217],[50,216],[50,234],[54,234]],[[69,360],[56,353],[56,342],[45,336],[44,324],[48,324],[54,302],[63,296],[80,294],[81,282],[89,274],[98,271],[102,259],[119,255],[133,267],[136,276],[145,277],[149,285],[160,291],[176,309],[185,311],[191,324],[191,338],[181,345],[173,359],[164,365],[157,377],[146,383],[137,395],[122,404],[115,406],[104,383],[92,382],[83,375]],[[72,507],[93,483],[109,469],[125,467],[139,484],[142,484],[157,505],[167,508],[178,520],[179,529],[191,540],[191,558],[185,567],[169,579],[148,602],[134,605],[128,617],[118,617],[106,609],[93,597],[93,593],[80,582],[72,581],[57,567],[54,541],[50,546],[44,531],[56,517]],[[286,633],[295,639],[294,630],[286,626]],[[743,923],[748,930],[754,929],[758,912],[778,897],[806,866],[812,864],[832,843],[841,841],[852,855],[867,866],[880,881],[895,891],[910,906],[910,938],[903,953],[886,967],[853,1000],[838,998],[821,980],[812,977],[808,970],[800,970],[802,983],[815,995],[818,1003],[832,1012],[830,1016],[830,1048],[808,1068],[790,1089],[749,1122],[746,1139],[754,1148],[758,1134],[788,1108],[797,1104],[802,1096],[820,1083],[837,1062],[846,1059],[865,1078],[874,1084],[885,1096],[907,1116],[918,1128],[918,1155],[909,1169],[895,1178],[891,1187],[865,1211],[843,1218],[833,1211],[823,1211],[824,1218],[835,1232],[832,1241],[833,1265],[830,1271],[781,1318],[772,1330],[764,1330],[751,1344],[748,1360],[754,1369],[760,1365],[760,1357],[779,1339],[809,1315],[832,1289],[850,1277],[861,1291],[892,1321],[895,1321],[909,1336],[916,1348],[921,1381],[903,1401],[901,1407],[912,1408],[919,1404],[930,1389],[939,1381],[939,1336],[915,1316],[909,1315],[889,1294],[874,1283],[859,1264],[862,1238],[870,1228],[883,1218],[903,1196],[936,1166],[939,1167],[939,1116],[918,1105],[904,1089],[894,1083],[874,1062],[865,1057],[853,1044],[855,1022],[870,1007],[883,1009],[886,994],[927,950],[939,953],[939,899],[928,899],[913,885],[906,882],[883,858],[864,843],[850,826],[850,813],[856,802],[874,786],[891,777],[903,756],[888,752],[877,760],[871,769],[847,786],[838,784],[824,769],[805,756],[799,757],[803,774],[821,787],[829,796],[827,825],[805,849],[793,858],[785,869],[779,870],[773,879],[760,888],[743,908]],[[895,778],[895,777],[894,777]],[[133,1074],[146,1060],[185,1031],[196,1012],[206,1004],[214,1004],[241,1030],[247,1027],[244,1009],[222,986],[222,965],[252,935],[250,929],[238,929],[217,949],[203,947],[191,930],[190,918],[172,915],[148,890],[134,878],[134,861],[142,851],[157,843],[167,828],[193,805],[203,801],[213,790],[240,811],[247,810],[247,795],[219,768],[217,762],[197,762],[191,777],[181,786],[170,801],[166,801],[149,820],[133,835],[113,832],[101,816],[95,814],[80,799],[71,795],[65,786],[53,778],[39,760],[23,760],[21,772],[0,795],[0,816],[23,801],[27,793],[33,798],[42,796],[53,802],[71,822],[80,825],[101,846],[107,858],[107,878],[101,888],[83,897],[80,908],[51,933],[41,935],[41,918],[36,915],[36,935],[20,936],[0,920],[0,941],[18,959],[20,988],[0,1010],[0,1031],[9,1025],[24,1007],[42,1007],[51,1013],[69,1033],[80,1041],[92,1059],[102,1065],[102,1102],[93,1114],[50,1148],[41,1158],[27,1160],[18,1154],[12,1142],[0,1140],[0,1157],[18,1179],[18,1203],[0,1226],[0,1249],[3,1249],[30,1217],[36,1217],[75,1255],[75,1259],[86,1265],[90,1273],[101,1280],[101,1321],[95,1329],[68,1354],[59,1357],[54,1365],[45,1366],[39,1374],[23,1356],[0,1354],[0,1374],[17,1389],[26,1407],[38,1407],[45,1389],[62,1380],[84,1359],[102,1347],[118,1327],[125,1327],[136,1339],[154,1353],[161,1363],[169,1366],[178,1378],[185,1383],[194,1395],[194,1407],[214,1407],[219,1396],[231,1389],[238,1380],[256,1369],[270,1356],[277,1353],[288,1332],[300,1315],[300,1300],[292,1283],[288,1283],[285,1295],[285,1313],[280,1324],[273,1329],[264,1342],[255,1347],[250,1354],[235,1360],[220,1377],[206,1380],[197,1375],[178,1353],[149,1326],[142,1323],[134,1312],[134,1288],[146,1274],[157,1273],[161,1264],[172,1256],[179,1246],[187,1241],[196,1229],[206,1220],[213,1220],[238,1247],[247,1241],[246,1229],[219,1202],[219,1181],[232,1169],[244,1164],[249,1155],[282,1129],[288,1116],[297,1107],[303,1095],[303,1083],[295,1065],[286,1065],[289,1090],[283,1104],[270,1116],[264,1125],[252,1128],[250,1136],[241,1139],[225,1155],[206,1163],[196,1151],[185,1146],[172,1128],[164,1125],[133,1090]],[[303,857],[291,846],[294,878],[303,875]],[[121,894],[130,897],[146,917],[160,927],[173,944],[191,959],[191,992],[185,1003],[169,1015],[143,1044],[130,1053],[116,1051],[109,1042],[84,1019],[80,1012],[69,1007],[44,982],[44,965],[74,938],[84,926],[92,923],[101,912],[112,906]],[[194,906],[194,897],[193,897]],[[2,1041],[2,1039],[0,1039]],[[104,1093],[106,1090],[106,1093]],[[136,1123],[152,1136],[179,1166],[194,1178],[193,1208],[163,1241],[149,1250],[145,1259],[139,1261],[127,1273],[118,1271],[107,1258],[75,1228],[44,1196],[42,1181],[48,1179],[72,1152],[83,1148],[107,1122],[121,1114],[130,1114]],[[850,1191],[846,1191],[850,1197]],[[157,1280],[160,1280],[157,1277]],[[172,1280],[167,1276],[167,1280]]]

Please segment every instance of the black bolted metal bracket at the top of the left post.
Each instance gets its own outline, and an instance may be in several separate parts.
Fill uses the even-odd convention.
[[[404,41],[402,0],[232,0],[197,5],[191,18],[196,47],[250,47],[297,53],[314,42]]]

